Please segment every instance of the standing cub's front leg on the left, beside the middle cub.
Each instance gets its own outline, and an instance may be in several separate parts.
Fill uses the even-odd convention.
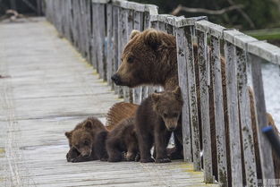
[[[151,157],[150,149],[153,146],[153,138],[147,132],[140,132],[137,134],[139,149],[140,149],[140,162],[148,163],[154,162]]]

